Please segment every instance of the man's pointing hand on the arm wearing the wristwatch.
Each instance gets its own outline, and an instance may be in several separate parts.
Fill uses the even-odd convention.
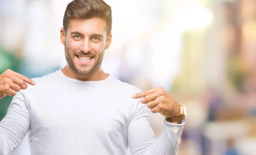
[[[161,86],[135,94],[133,98],[142,98],[141,103],[147,104],[151,112],[159,112],[166,118],[171,118],[180,113],[180,105]]]

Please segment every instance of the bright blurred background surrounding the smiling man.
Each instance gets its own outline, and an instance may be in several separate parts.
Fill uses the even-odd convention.
[[[35,78],[65,66],[59,30],[70,1],[0,0],[0,73]],[[178,155],[256,155],[256,0],[105,2],[113,41],[102,68],[141,90],[163,86],[186,106]],[[0,120],[11,100],[0,100]],[[159,136],[163,117],[150,118]]]

